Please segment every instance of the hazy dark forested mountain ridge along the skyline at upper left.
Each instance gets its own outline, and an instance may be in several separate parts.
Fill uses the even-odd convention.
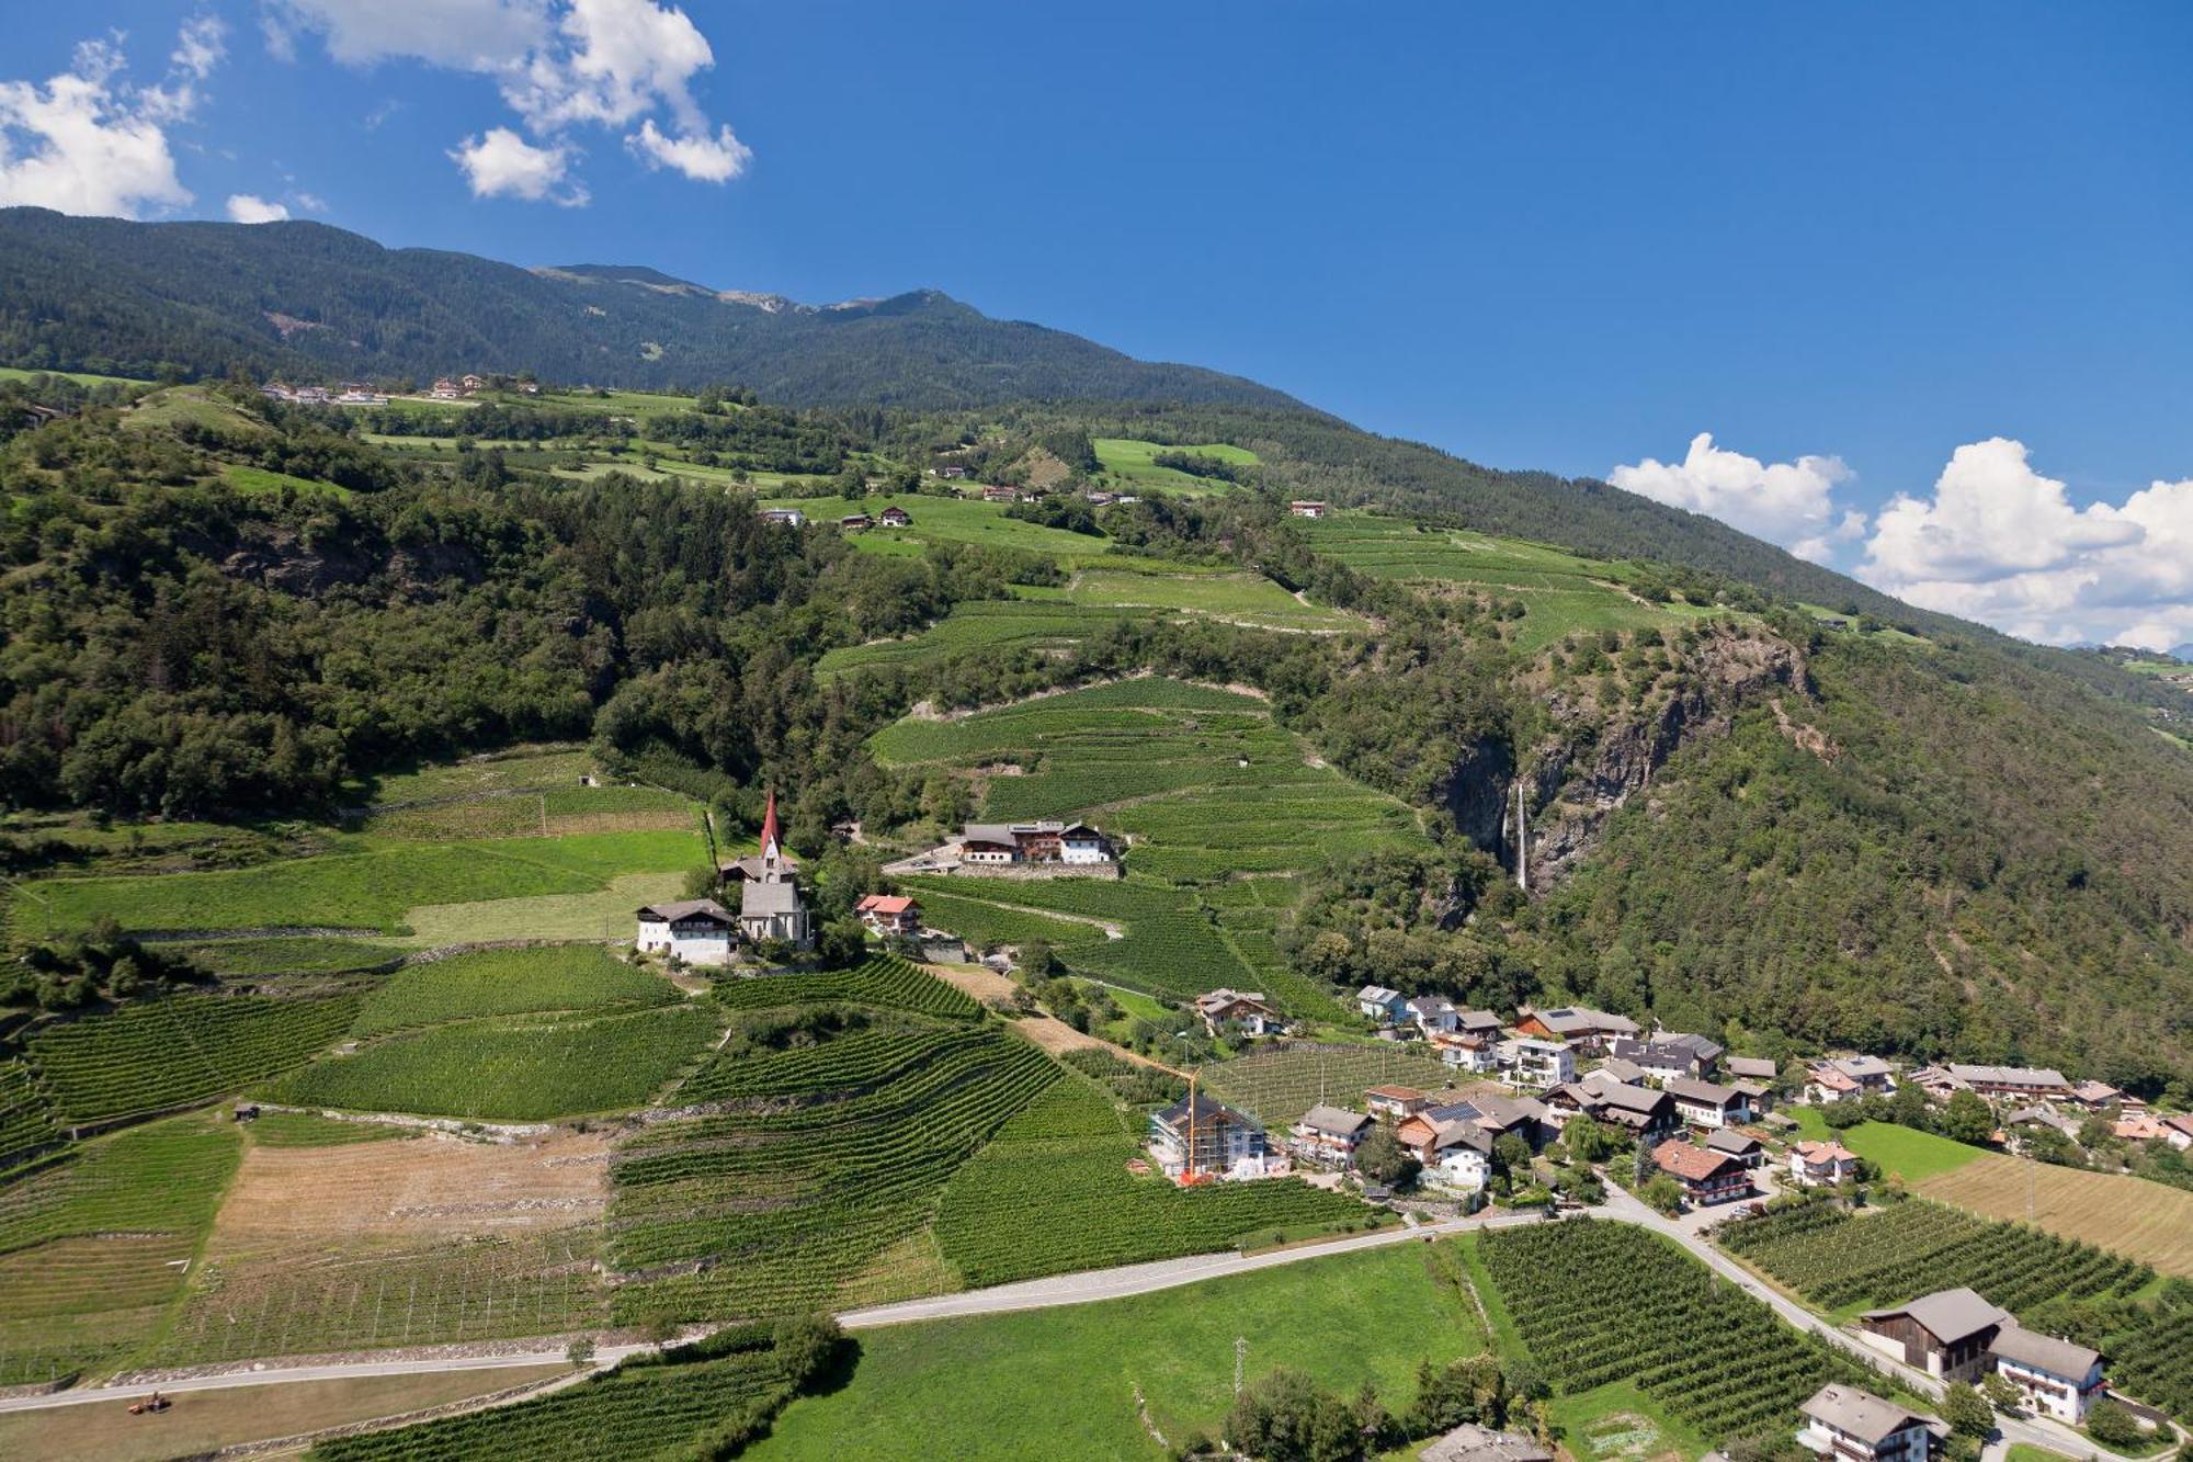
[[[789,404],[1230,400],[1298,406],[1235,375],[1151,364],[991,320],[934,290],[814,310],[645,268],[524,270],[388,250],[325,224],[132,224],[0,209],[0,360],[154,375],[737,382]]]

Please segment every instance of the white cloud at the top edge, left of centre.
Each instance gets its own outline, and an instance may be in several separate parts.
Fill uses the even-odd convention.
[[[283,15],[279,48],[294,48],[289,26],[318,31],[338,61],[366,66],[410,57],[432,66],[493,77],[502,101],[518,114],[539,158],[568,169],[581,154],[568,140],[575,127],[632,127],[627,147],[654,169],[673,169],[695,182],[728,182],[746,171],[752,151],[730,127],[717,127],[693,99],[693,77],[715,66],[715,50],[700,26],[675,4],[658,0],[274,0]],[[656,116],[667,119],[667,127]],[[368,123],[373,125],[373,123]],[[496,132],[515,134],[509,127]],[[465,162],[482,138],[452,151],[476,195],[583,202],[577,184],[520,191],[482,189]],[[526,162],[500,143],[489,162]],[[557,178],[561,180],[561,171]]]

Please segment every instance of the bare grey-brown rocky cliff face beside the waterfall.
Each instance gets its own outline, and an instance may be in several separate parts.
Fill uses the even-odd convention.
[[[1445,777],[1441,803],[1456,830],[1513,871],[1515,843],[1504,812],[1520,775],[1531,819],[1531,889],[1544,889],[1599,845],[1607,819],[1649,788],[1682,746],[1726,733],[1748,705],[1809,694],[1796,645],[1770,634],[1713,630],[1636,707],[1603,709],[1590,683],[1548,687],[1544,702],[1553,731],[1524,749],[1524,768],[1518,773],[1504,742],[1478,742]]]

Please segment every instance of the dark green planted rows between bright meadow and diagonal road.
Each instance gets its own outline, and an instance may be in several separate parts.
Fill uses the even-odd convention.
[[[1627,1381],[1708,1442],[1787,1433],[1831,1381],[1886,1379],[1627,1223],[1575,1218],[1478,1236],[1531,1357],[1564,1394]]]

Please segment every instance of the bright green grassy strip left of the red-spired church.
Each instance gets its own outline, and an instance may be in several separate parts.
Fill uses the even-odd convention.
[[[24,887],[22,929],[377,929],[430,902],[601,893],[621,874],[678,874],[706,863],[700,832],[601,832],[561,839],[390,843],[211,874],[46,878]],[[629,911],[627,911],[629,913]],[[471,935],[489,937],[489,935]]]

